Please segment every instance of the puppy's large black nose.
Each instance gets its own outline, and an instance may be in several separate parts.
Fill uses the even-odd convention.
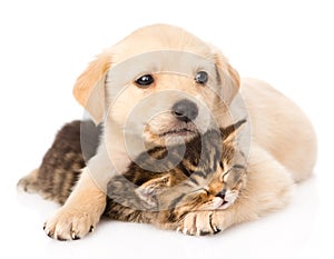
[[[173,106],[171,113],[178,120],[189,122],[198,116],[198,108],[195,102],[184,99]]]

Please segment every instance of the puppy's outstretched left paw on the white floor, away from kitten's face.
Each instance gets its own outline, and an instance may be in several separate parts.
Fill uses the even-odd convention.
[[[50,238],[61,241],[76,240],[92,232],[99,216],[80,212],[76,209],[60,208],[43,226]]]

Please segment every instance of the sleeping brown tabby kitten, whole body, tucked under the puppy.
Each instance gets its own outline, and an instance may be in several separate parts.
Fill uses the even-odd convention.
[[[236,129],[244,122],[220,129],[220,132],[210,130],[185,147],[157,147],[148,150],[148,156],[139,155],[124,175],[109,181],[104,215],[116,220],[176,229],[189,211],[228,208],[246,179],[245,158],[234,141]],[[80,138],[80,124],[81,132],[88,135],[85,138]],[[96,152],[99,133],[90,121],[66,124],[33,177],[22,178],[18,186],[62,205],[85,161]],[[81,148],[81,139],[91,142],[84,142]]]

